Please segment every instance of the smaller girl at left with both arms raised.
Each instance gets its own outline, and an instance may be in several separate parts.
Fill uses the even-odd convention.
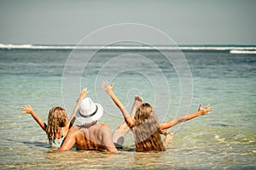
[[[75,114],[79,109],[81,101],[87,94],[87,88],[84,88],[79,95],[77,104],[74,107],[73,114],[68,119],[67,111],[62,107],[56,106],[49,110],[48,124],[41,120],[41,118],[33,111],[31,105],[24,105],[21,107],[23,113],[30,114],[39,126],[42,127],[44,132],[47,134],[49,144],[51,147],[61,147],[63,140],[65,139],[68,130],[73,126],[75,122]]]

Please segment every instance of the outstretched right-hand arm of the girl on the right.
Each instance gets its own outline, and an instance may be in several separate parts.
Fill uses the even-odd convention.
[[[200,105],[198,111],[195,112],[195,113],[189,114],[187,116],[181,116],[177,119],[173,119],[173,120],[168,121],[168,122],[160,123],[160,130],[164,130],[166,128],[173,127],[173,126],[175,126],[175,125],[177,125],[178,123],[181,123],[181,122],[189,121],[190,119],[194,119],[197,116],[207,115],[211,111],[212,111],[212,107],[210,107],[209,105],[207,105],[204,108],[202,108],[201,105]]]

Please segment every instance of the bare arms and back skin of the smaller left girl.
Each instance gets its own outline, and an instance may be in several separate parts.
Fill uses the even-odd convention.
[[[64,136],[67,135],[67,132],[69,130],[69,128],[71,128],[73,126],[73,123],[75,122],[75,114],[76,111],[78,111],[79,109],[79,105],[81,103],[81,101],[85,98],[87,94],[87,88],[84,88],[81,92],[81,94],[79,94],[79,99],[77,100],[77,104],[75,105],[74,109],[73,109],[73,114],[70,116],[69,121],[66,123],[66,125],[64,126]],[[44,132],[46,131],[46,127],[47,125],[44,123],[44,121],[33,111],[32,106],[31,105],[24,105],[21,107],[21,110],[24,111],[23,114],[30,114],[34,120],[36,122],[38,122],[39,126],[44,130]],[[61,127],[58,129],[57,132],[57,136],[55,136],[55,139],[61,139]]]

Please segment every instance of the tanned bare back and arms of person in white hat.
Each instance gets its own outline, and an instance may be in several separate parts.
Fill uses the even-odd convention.
[[[119,153],[113,144],[111,130],[107,124],[71,127],[57,151],[70,150],[73,145],[76,145],[77,150],[108,150],[111,153]]]

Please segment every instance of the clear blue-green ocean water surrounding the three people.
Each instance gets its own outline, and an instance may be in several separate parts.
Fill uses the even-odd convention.
[[[73,50],[74,48],[74,50]],[[165,152],[137,153],[133,136],[124,151],[52,152],[46,134],[22,105],[32,105],[47,122],[59,105],[71,114],[82,88],[104,107],[100,122],[112,130],[124,122],[102,88],[114,92],[130,111],[135,94],[154,106],[160,122],[213,110],[169,130]],[[256,47],[108,47],[0,44],[1,169],[255,169]]]

